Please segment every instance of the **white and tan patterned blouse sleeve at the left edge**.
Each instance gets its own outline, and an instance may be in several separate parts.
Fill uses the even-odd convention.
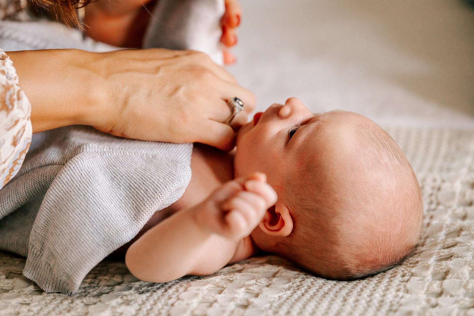
[[[17,174],[31,143],[31,104],[0,49],[0,189]]]

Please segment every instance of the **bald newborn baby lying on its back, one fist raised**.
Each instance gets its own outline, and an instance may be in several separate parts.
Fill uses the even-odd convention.
[[[361,115],[274,104],[237,135],[235,156],[195,145],[191,182],[130,245],[129,270],[164,282],[207,275],[259,251],[316,275],[387,270],[418,242],[423,206],[410,163]],[[234,179],[235,180],[232,180]]]

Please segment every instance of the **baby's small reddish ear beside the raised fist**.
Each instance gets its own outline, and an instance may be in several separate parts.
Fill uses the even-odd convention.
[[[286,237],[293,230],[293,220],[290,210],[283,203],[273,205],[267,209],[264,218],[258,224],[266,234]]]

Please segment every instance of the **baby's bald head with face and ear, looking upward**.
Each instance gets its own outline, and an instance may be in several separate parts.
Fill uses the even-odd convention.
[[[278,194],[252,232],[255,244],[317,275],[372,275],[418,242],[418,181],[397,144],[366,117],[314,115],[288,99],[242,127],[234,165],[236,177],[266,173]]]

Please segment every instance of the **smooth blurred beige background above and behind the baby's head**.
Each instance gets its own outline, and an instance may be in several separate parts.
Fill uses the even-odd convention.
[[[229,67],[257,111],[300,98],[382,126],[474,129],[474,7],[463,0],[240,0]]]

